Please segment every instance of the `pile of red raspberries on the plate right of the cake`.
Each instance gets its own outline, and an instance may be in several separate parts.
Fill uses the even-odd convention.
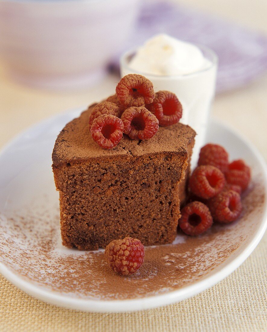
[[[250,168],[242,159],[229,163],[227,151],[218,144],[200,150],[198,166],[189,179],[188,203],[181,210],[179,226],[188,235],[208,230],[213,221],[227,224],[242,211],[241,194],[250,182]]]

